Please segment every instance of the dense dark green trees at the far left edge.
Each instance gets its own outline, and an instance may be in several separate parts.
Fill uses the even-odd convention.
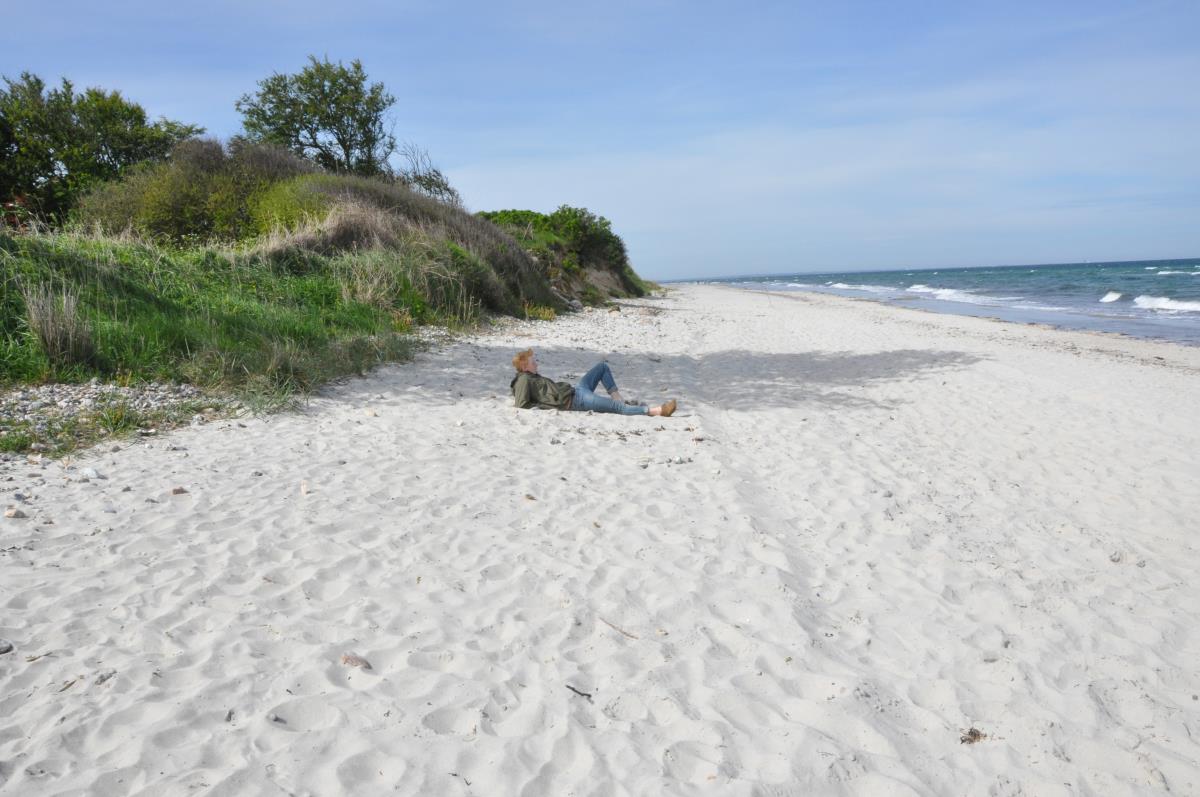
[[[4,78],[0,89],[0,200],[20,200],[61,220],[94,185],[142,161],[162,160],[203,127],[169,119],[150,124],[120,91],[77,94],[66,78],[47,90],[35,74]]]

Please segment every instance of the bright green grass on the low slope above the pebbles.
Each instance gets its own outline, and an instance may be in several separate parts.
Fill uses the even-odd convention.
[[[396,294],[356,300],[336,258],[307,274],[234,250],[178,250],[73,234],[0,234],[0,384],[188,382],[293,395],[410,350]],[[31,322],[32,288],[78,298],[86,358],[54,355]]]

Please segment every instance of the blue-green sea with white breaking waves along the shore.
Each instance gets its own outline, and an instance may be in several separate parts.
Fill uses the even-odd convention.
[[[758,290],[816,290],[936,312],[1200,346],[1200,258],[782,274],[706,282]]]

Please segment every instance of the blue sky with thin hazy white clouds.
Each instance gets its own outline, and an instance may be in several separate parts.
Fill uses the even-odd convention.
[[[470,210],[586,206],[654,280],[1200,257],[1200,2],[13,4],[0,74],[238,133],[362,61]]]

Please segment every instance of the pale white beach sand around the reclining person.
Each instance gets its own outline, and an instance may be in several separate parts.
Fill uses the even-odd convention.
[[[680,413],[514,409],[526,344]],[[1198,795],[1198,397],[686,287],[10,468],[0,793]]]

